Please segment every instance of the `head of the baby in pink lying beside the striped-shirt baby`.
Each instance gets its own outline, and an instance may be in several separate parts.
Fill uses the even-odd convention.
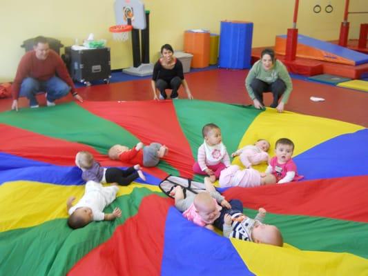
[[[202,217],[203,221],[206,224],[213,224],[213,221],[217,219],[220,212],[211,195],[207,192],[198,193],[195,195],[193,203],[198,215]]]

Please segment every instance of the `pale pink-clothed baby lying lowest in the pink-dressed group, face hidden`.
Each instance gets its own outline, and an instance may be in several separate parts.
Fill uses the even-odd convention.
[[[244,188],[275,184],[276,177],[271,174],[260,173],[253,168],[240,169],[238,165],[231,165],[222,170],[219,184],[221,188],[240,186]]]

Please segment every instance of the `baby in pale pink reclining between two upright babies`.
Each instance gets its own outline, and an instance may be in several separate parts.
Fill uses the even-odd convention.
[[[267,151],[270,148],[269,141],[259,139],[254,145],[244,146],[231,154],[231,157],[239,156],[240,161],[245,168],[251,168],[252,165],[258,165],[262,162],[269,161],[269,154]]]

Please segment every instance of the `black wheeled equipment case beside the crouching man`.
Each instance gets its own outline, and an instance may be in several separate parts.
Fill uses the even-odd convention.
[[[75,81],[90,86],[90,81],[104,80],[110,82],[110,48],[72,50],[65,48],[64,61],[70,77]]]

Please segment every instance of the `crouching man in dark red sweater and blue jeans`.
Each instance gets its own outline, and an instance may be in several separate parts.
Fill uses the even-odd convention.
[[[27,97],[31,108],[38,108],[36,95],[46,92],[47,106],[55,106],[55,99],[72,93],[83,101],[75,90],[74,83],[61,57],[50,50],[45,37],[36,37],[32,51],[26,52],[19,62],[17,75],[12,83],[12,110],[18,110],[18,98]]]

